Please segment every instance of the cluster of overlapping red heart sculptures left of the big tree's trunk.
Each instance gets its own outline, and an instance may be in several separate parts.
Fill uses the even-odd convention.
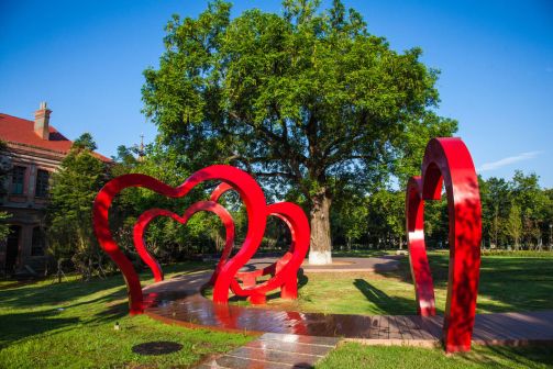
[[[218,214],[226,227],[226,244],[223,250],[223,256],[215,269],[213,301],[217,303],[226,303],[229,299],[229,289],[235,294],[247,297],[252,303],[263,303],[267,292],[277,288],[281,289],[284,298],[297,297],[297,272],[303,261],[309,248],[309,223],[301,208],[288,202],[280,202],[266,205],[265,197],[262,189],[246,172],[230,166],[217,165],[207,167],[195,172],[181,186],[177,188],[169,187],[150,176],[145,175],[124,175],[109,181],[98,193],[93,204],[93,223],[95,233],[100,246],[115,261],[121,269],[129,290],[129,302],[131,314],[140,314],[143,312],[143,295],[139,277],[134,270],[132,262],[124,256],[113,239],[109,227],[108,214],[114,197],[123,189],[130,187],[142,187],[153,190],[157,193],[169,198],[185,197],[197,185],[208,181],[219,180],[228,185],[220,186],[220,192],[215,189],[211,201],[202,201],[193,204],[185,215],[179,215],[161,209],[154,209],[145,212],[139,217],[135,225],[134,241],[140,256],[148,265],[156,280],[163,279],[163,273],[157,261],[152,257],[144,246],[143,233],[147,224],[158,215],[170,216],[172,219],[186,223],[189,216],[197,211],[211,211]],[[234,227],[232,217],[217,204],[217,200],[221,193],[232,188],[241,195],[247,213],[247,233],[244,244],[239,253],[231,259],[230,255],[234,238]],[[283,259],[286,262],[280,262],[279,268],[275,268],[273,277],[259,284],[240,286],[235,280],[240,268],[244,266],[255,254],[265,232],[266,217],[268,215],[277,215],[285,220],[290,227],[292,235],[292,253],[285,255]]]

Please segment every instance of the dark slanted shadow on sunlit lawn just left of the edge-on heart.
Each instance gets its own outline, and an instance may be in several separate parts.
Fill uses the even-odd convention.
[[[378,313],[380,314],[413,315],[417,312],[412,300],[399,297],[389,297],[364,279],[355,279],[353,286],[355,286],[365,295],[365,298],[376,306]]]

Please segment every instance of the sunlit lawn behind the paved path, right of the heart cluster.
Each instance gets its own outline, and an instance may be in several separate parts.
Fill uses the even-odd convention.
[[[477,313],[553,309],[553,253],[524,255],[483,256]],[[447,293],[449,254],[434,251],[429,258],[436,309],[442,314]],[[245,304],[242,300],[237,303]],[[300,278],[297,301],[280,300],[275,293],[268,305],[339,314],[408,315],[417,312],[407,257],[394,272],[308,273]]]

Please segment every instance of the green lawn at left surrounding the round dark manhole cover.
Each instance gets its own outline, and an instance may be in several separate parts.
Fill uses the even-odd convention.
[[[174,266],[167,278],[198,267],[201,265],[190,262]],[[189,367],[253,339],[170,326],[145,315],[130,317],[119,273],[89,282],[70,279],[60,284],[49,280],[0,289],[0,368]],[[120,331],[114,329],[115,322]],[[155,340],[184,347],[163,356],[132,351],[134,345]]]

